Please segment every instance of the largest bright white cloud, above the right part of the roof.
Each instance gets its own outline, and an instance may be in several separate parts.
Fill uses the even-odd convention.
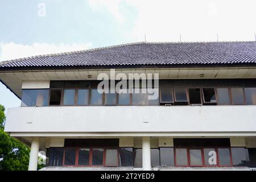
[[[126,0],[138,11],[131,36],[142,41],[255,40],[255,0]]]

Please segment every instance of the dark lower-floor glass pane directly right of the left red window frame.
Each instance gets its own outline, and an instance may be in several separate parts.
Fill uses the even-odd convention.
[[[133,148],[119,148],[119,166],[133,166]]]

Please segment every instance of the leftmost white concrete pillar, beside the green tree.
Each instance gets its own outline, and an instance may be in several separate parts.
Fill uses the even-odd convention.
[[[38,168],[39,137],[32,137],[30,150],[30,163],[28,171],[36,171]]]

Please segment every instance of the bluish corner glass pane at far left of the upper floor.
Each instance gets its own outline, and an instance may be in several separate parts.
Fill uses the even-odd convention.
[[[21,106],[47,106],[48,94],[48,89],[22,90]]]

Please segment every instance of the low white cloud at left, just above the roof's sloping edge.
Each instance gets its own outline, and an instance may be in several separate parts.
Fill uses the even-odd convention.
[[[28,56],[44,55],[49,53],[80,51],[91,48],[92,44],[47,44],[34,43],[23,45],[16,43],[0,43],[0,61],[18,59]]]

